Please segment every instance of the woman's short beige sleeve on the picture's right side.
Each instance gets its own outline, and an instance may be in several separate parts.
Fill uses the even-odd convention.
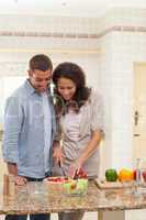
[[[104,111],[102,97],[93,92],[91,100],[92,117],[91,117],[91,130],[104,131]]]

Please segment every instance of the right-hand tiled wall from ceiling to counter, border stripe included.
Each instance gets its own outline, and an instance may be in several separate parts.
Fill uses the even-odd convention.
[[[100,66],[105,65],[101,67],[106,109],[105,161],[120,168],[133,166],[133,64],[146,62],[146,10],[114,12],[112,24],[120,29],[102,37],[104,55]]]

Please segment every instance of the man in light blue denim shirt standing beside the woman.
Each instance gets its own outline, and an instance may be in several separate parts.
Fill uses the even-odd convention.
[[[18,185],[40,182],[52,173],[53,140],[56,132],[49,84],[53,65],[38,54],[31,58],[29,78],[7,100],[3,158]],[[31,215],[31,220],[48,220],[48,215]],[[26,216],[7,216],[25,220]]]

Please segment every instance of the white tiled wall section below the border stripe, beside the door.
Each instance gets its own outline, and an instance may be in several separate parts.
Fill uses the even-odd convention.
[[[146,33],[113,34],[113,162],[131,166],[134,62],[146,62]]]

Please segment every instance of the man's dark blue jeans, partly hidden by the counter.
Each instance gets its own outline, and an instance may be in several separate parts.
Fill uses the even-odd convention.
[[[49,176],[48,174],[46,175],[46,177]],[[31,178],[31,177],[26,177],[27,182],[42,182],[43,178]],[[27,219],[27,215],[8,215],[5,216],[5,220],[26,220]],[[46,215],[46,213],[37,213],[37,215],[30,215],[30,220],[49,220],[50,219],[50,215]]]

